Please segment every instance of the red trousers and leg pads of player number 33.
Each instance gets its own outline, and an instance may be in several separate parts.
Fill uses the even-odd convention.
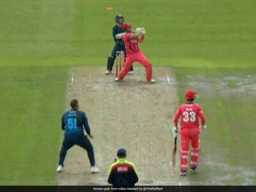
[[[198,164],[200,152],[199,129],[181,129],[180,131],[180,171],[188,171],[189,145],[191,143],[191,168]]]

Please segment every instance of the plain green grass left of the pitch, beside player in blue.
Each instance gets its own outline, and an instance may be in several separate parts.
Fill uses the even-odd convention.
[[[53,184],[67,68],[0,68],[0,184]]]

